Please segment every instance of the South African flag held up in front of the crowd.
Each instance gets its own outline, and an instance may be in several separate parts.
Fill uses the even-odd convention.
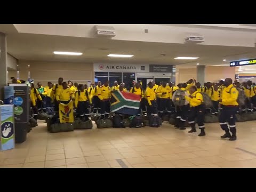
[[[140,109],[140,95],[129,92],[114,91],[110,110],[120,114],[137,115]]]

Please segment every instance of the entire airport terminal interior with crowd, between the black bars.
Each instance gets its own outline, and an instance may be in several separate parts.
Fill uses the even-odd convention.
[[[256,167],[256,25],[0,24],[0,168]]]

